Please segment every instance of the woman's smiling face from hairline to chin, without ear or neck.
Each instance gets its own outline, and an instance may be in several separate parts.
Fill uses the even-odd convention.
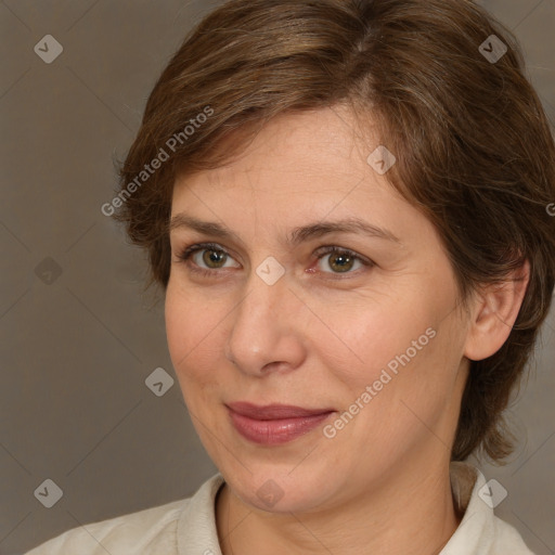
[[[210,457],[267,511],[337,507],[450,459],[468,331],[454,274],[380,175],[379,138],[352,129],[347,111],[282,116],[175,186],[171,360]]]

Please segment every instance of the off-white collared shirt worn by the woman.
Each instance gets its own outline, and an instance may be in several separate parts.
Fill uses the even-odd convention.
[[[451,463],[450,475],[464,517],[439,555],[533,555],[478,494],[486,478],[477,468]],[[223,482],[216,474],[192,498],[68,530],[27,555],[221,555],[215,500]]]

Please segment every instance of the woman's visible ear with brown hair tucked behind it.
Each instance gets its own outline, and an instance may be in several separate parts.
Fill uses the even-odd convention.
[[[501,349],[518,317],[529,281],[530,263],[526,260],[501,285],[480,289],[466,336],[464,354],[467,359],[483,360]]]

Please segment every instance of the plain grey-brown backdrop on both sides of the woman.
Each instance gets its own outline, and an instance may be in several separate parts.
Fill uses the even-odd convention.
[[[156,367],[173,375],[163,301],[143,294],[144,255],[100,207],[156,78],[218,3],[0,2],[1,554],[188,496],[217,472],[177,380],[162,397],[145,386]],[[516,31],[555,121],[555,0],[482,3]],[[34,52],[46,35],[64,48],[51,64]],[[538,555],[555,553],[554,358],[552,312],[511,411],[526,439],[506,467],[480,465]],[[52,508],[34,495],[47,478],[64,492]]]

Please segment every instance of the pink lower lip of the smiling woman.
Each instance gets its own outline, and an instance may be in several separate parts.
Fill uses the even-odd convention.
[[[333,413],[326,412],[296,418],[257,421],[230,410],[231,421],[235,429],[249,441],[264,446],[278,446],[293,441],[299,436],[312,431],[331,414]]]

